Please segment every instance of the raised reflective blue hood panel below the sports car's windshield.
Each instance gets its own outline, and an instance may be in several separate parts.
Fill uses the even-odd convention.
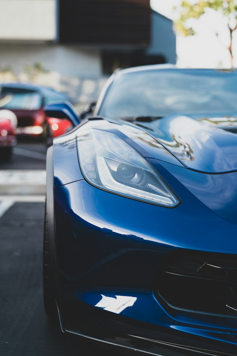
[[[142,126],[188,169],[203,173],[237,171],[237,135],[232,132],[176,114]]]

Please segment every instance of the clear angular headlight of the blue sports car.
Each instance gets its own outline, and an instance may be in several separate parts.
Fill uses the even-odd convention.
[[[85,179],[98,188],[170,208],[179,204],[176,194],[133,147],[117,135],[90,129],[77,135]]]

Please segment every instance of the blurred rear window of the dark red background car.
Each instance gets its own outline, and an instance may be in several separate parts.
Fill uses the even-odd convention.
[[[41,107],[42,97],[32,90],[18,88],[0,88],[0,108],[37,110]]]

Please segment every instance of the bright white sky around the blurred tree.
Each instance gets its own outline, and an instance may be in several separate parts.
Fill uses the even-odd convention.
[[[173,6],[181,0],[150,0],[151,7],[160,14],[175,20]],[[190,19],[189,26],[196,34],[184,37],[177,34],[177,66],[191,68],[230,68],[228,46],[230,35],[226,19],[217,11],[207,9],[199,20]],[[218,33],[218,36],[216,36]],[[237,30],[233,32],[233,65],[237,67]]]

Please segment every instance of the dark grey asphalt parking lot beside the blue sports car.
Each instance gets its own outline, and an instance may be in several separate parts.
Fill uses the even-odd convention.
[[[18,144],[11,162],[0,163],[0,174],[45,169],[45,151],[43,144]],[[44,195],[0,195],[0,356],[115,356],[64,336],[44,313],[43,216]]]

